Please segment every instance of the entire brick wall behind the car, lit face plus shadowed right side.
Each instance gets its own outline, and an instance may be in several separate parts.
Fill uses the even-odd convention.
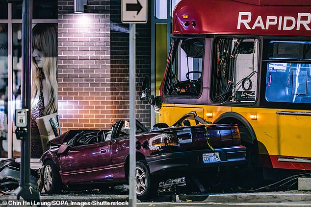
[[[58,0],[58,114],[63,132],[110,128],[116,119],[129,118],[129,24],[121,24],[120,7],[121,0],[88,0],[84,13],[75,14],[73,0]],[[136,117],[147,127],[150,106],[139,96],[144,76],[150,75],[150,31],[150,21],[136,24]]]

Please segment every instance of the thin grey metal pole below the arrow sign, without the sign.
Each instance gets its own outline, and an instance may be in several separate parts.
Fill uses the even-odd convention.
[[[136,80],[136,50],[135,50],[135,30],[136,24],[130,23],[130,195],[129,201],[131,207],[136,207],[136,120],[135,120],[135,80]]]

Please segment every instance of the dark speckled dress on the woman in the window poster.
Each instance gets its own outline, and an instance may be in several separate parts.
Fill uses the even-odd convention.
[[[36,122],[36,118],[43,116],[43,110],[44,98],[41,83],[38,103],[31,108],[31,158],[40,158],[43,154],[40,132]]]

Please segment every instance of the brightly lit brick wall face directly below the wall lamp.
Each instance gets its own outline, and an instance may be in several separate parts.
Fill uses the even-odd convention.
[[[58,114],[62,131],[110,127],[110,1],[58,0]]]

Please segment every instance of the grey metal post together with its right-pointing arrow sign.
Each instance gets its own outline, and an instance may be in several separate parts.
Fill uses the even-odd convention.
[[[130,23],[129,36],[129,72],[130,72],[130,167],[129,167],[129,183],[130,195],[129,202],[131,207],[136,207],[136,119],[135,119],[135,80],[136,80],[136,37],[135,23],[147,23],[148,20],[147,0],[121,0],[121,21],[122,23]]]

